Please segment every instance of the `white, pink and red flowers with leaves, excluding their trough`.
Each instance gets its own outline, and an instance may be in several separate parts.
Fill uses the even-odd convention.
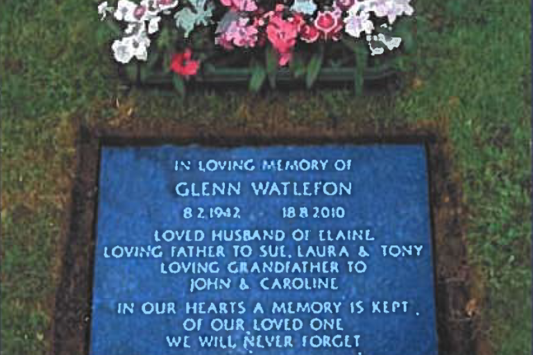
[[[237,58],[240,66],[248,58],[244,66],[251,89],[257,90],[266,78],[274,86],[283,67],[312,86],[328,54],[335,67],[335,50],[329,46],[337,43],[344,44],[337,59],[346,58],[348,49],[359,67],[356,76],[363,76],[369,58],[400,46],[403,36],[395,36],[391,26],[413,15],[409,1],[119,0],[116,6],[101,3],[98,12],[121,36],[111,46],[121,64],[137,60],[146,62],[141,68],[148,74],[155,68],[171,73],[183,92],[184,80],[216,70],[224,57]],[[403,35],[409,35],[405,28]],[[264,60],[258,59],[261,55]]]

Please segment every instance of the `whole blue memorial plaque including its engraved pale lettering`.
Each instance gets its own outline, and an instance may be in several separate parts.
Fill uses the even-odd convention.
[[[421,145],[103,147],[90,354],[437,354],[426,164]]]

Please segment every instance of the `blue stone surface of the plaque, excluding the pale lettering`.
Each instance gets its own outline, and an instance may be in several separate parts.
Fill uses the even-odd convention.
[[[198,160],[249,159],[257,168],[253,172],[203,173],[198,171]],[[326,171],[263,171],[262,159],[328,159]],[[350,171],[338,172],[332,167],[336,159],[351,159]],[[190,171],[175,171],[176,160],[192,161]],[[90,355],[208,355],[249,354],[243,348],[243,331],[209,330],[213,318],[243,318],[251,335],[292,335],[294,347],[253,347],[253,354],[267,355],[436,355],[437,331],[434,304],[434,274],[428,197],[428,171],[425,149],[418,145],[369,146],[270,146],[263,148],[206,148],[202,146],[158,147],[103,147],[99,178],[99,204],[96,225],[96,257],[92,299],[92,326]],[[176,194],[178,182],[237,182],[242,183],[242,194],[216,197],[180,197]],[[311,197],[257,197],[250,182],[352,182],[350,196]],[[241,218],[183,218],[183,209],[192,207],[239,207]],[[344,207],[344,218],[282,218],[282,207]],[[196,214],[196,212],[195,212]],[[260,245],[271,242],[251,241],[239,243],[212,242],[213,229],[269,229],[284,230],[286,254],[291,259],[278,261],[303,261],[296,257],[297,243],[289,232],[296,228],[311,230],[309,241],[299,245],[346,245],[350,257],[337,258],[339,274],[230,274],[225,265],[234,258],[229,245]],[[173,241],[156,243],[155,230],[201,229],[205,239],[201,242]],[[375,241],[319,241],[318,230],[371,230]],[[115,245],[162,245],[167,252],[171,245],[228,245],[225,258],[192,258],[191,261],[219,261],[220,272],[204,277],[229,277],[232,288],[210,292],[189,292],[192,274],[167,274],[160,272],[160,263],[184,261],[166,255],[162,259],[104,257],[104,248]],[[276,243],[271,243],[276,245]],[[381,245],[421,245],[421,256],[383,257]],[[364,246],[369,257],[359,257],[359,246]],[[307,248],[305,248],[307,250]],[[338,249],[339,250],[339,249]],[[414,249],[413,249],[414,250]],[[260,258],[253,261],[269,261]],[[309,258],[307,261],[322,261]],[[327,259],[331,260],[331,259]],[[367,270],[362,274],[348,273],[347,261],[362,260]],[[239,290],[239,279],[246,276],[251,287]],[[338,290],[313,291],[263,291],[260,280],[279,277],[337,277]],[[362,301],[364,312],[350,313],[350,302]],[[177,313],[171,315],[144,315],[144,302],[174,302]],[[244,302],[247,312],[239,314],[185,315],[186,302]],[[272,302],[342,302],[340,314],[272,315]],[[406,313],[372,313],[372,301],[407,301]],[[135,302],[133,314],[119,315],[118,302]],[[265,314],[253,314],[256,302],[262,302]],[[207,306],[205,307],[207,309]],[[356,308],[357,310],[357,308]],[[418,315],[417,315],[418,313]],[[309,322],[318,316],[323,319],[341,318],[343,331],[310,330]],[[201,331],[186,332],[183,320],[204,318]],[[254,331],[254,318],[300,318],[304,330],[299,332]],[[198,336],[232,336],[236,349],[201,347]],[[302,347],[301,335],[346,334],[359,335],[359,347]],[[171,348],[167,336],[190,336],[188,349]],[[353,343],[352,343],[353,345]]]

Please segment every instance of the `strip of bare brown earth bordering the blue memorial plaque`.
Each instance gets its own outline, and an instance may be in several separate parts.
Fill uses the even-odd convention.
[[[287,135],[287,132],[291,134]],[[183,125],[149,130],[81,126],[77,142],[76,178],[72,182],[70,210],[65,216],[67,221],[62,233],[63,256],[53,313],[52,354],[89,354],[101,146],[161,144],[215,147],[423,144],[429,170],[439,354],[481,354],[486,340],[475,331],[480,329],[480,322],[475,314],[468,311],[468,302],[477,291],[475,272],[468,265],[464,241],[462,193],[450,167],[446,137],[439,132],[438,127],[409,126],[382,130],[372,127],[368,132],[296,127],[247,131]]]

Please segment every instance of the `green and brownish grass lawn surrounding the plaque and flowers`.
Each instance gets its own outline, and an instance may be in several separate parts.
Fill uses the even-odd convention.
[[[530,2],[415,2],[416,78],[394,96],[350,92],[120,94],[96,3],[0,2],[1,354],[46,354],[59,235],[81,121],[322,125],[438,121],[462,181],[466,239],[496,354],[530,354]],[[117,105],[117,101],[119,105]]]

